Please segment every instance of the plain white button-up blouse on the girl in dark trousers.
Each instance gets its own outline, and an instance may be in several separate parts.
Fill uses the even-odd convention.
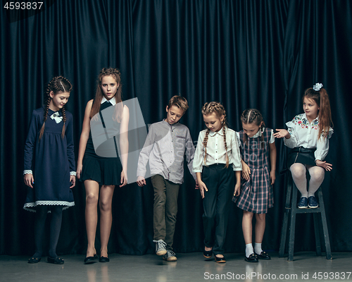
[[[193,159],[193,172],[202,172],[203,166],[210,166],[212,164],[226,164],[226,150],[223,130],[221,129],[218,132],[210,131],[205,150],[203,140],[206,136],[206,131],[207,130],[202,130],[199,133],[196,153],[194,154]],[[239,142],[237,140],[236,131],[230,128],[225,128],[225,134],[229,164],[232,164],[234,171],[241,171],[241,155],[239,154]],[[204,164],[205,152],[206,164]]]

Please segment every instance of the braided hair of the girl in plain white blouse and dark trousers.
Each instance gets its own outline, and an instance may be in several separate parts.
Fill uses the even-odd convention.
[[[201,109],[201,114],[203,114],[203,116],[208,116],[210,114],[215,113],[215,115],[217,116],[217,118],[221,118],[222,116],[224,116],[224,119],[222,120],[222,131],[224,133],[224,144],[225,144],[225,150],[226,150],[226,168],[229,167],[229,156],[227,155],[227,142],[226,142],[226,132],[225,132],[225,127],[227,125],[226,123],[226,111],[224,106],[222,106],[222,104],[220,104],[219,102],[207,102],[206,104],[204,104],[203,108]],[[206,150],[206,145],[208,144],[208,137],[209,137],[209,133],[210,133],[210,129],[208,128],[208,130],[206,130],[206,136],[204,137],[203,140],[203,146]],[[206,164],[206,152],[204,154],[204,164]]]

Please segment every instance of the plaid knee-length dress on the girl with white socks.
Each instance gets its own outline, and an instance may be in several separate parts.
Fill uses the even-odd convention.
[[[244,131],[239,132],[241,155],[251,169],[251,176],[248,181],[242,178],[241,192],[239,197],[234,197],[234,202],[240,209],[253,214],[266,214],[274,205],[268,161],[271,131],[270,128],[263,130],[263,141],[261,137],[248,137],[246,145]]]

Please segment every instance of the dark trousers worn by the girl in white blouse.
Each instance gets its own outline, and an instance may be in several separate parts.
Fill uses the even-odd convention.
[[[234,195],[234,171],[230,165],[213,164],[203,166],[202,181],[208,192],[203,199],[204,244],[213,247],[214,255],[224,253],[230,203]]]

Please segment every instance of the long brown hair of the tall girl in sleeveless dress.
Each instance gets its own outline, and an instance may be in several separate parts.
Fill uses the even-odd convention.
[[[118,68],[103,68],[99,75],[96,85],[96,94],[94,98],[94,103],[92,105],[92,111],[90,112],[90,118],[92,118],[95,114],[98,114],[100,111],[101,100],[103,99],[104,95],[101,91],[101,80],[104,76],[111,75],[115,81],[118,83],[118,90],[115,94],[115,101],[118,106],[115,106],[115,118],[118,122],[121,121],[122,118],[122,83],[121,83],[121,73]]]

